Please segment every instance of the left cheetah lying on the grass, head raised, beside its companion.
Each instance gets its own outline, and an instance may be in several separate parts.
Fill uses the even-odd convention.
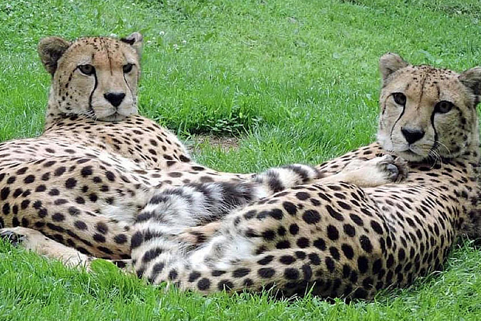
[[[0,228],[33,228],[89,255],[130,257],[124,235],[146,191],[247,177],[193,162],[175,135],[136,115],[141,44],[138,32],[39,42],[52,75],[45,130],[0,143]],[[83,215],[101,218],[101,237],[71,231],[84,227]],[[57,224],[62,217],[66,224]]]

